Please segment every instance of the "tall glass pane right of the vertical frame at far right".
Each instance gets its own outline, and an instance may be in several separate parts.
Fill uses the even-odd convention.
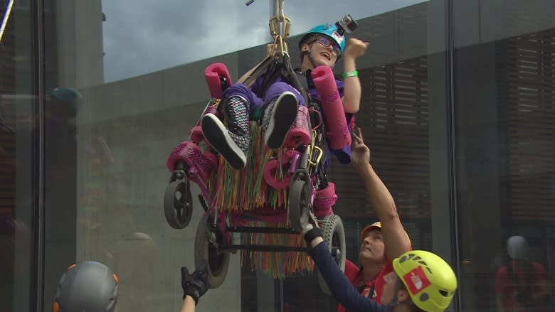
[[[539,2],[553,11],[551,2]],[[475,11],[455,11],[455,21],[480,19],[484,25],[480,36],[455,33],[460,38],[455,44],[467,43],[455,50],[454,68],[460,254],[467,281],[462,284],[462,306],[472,311],[518,311],[518,296],[509,294],[515,289],[507,280],[507,268],[514,259],[507,253],[507,238],[525,237],[529,261],[545,267],[547,276],[541,280],[552,284],[554,276],[554,188],[551,161],[546,160],[555,156],[549,134],[554,125],[548,121],[555,107],[552,97],[545,96],[554,88],[551,75],[545,75],[553,67],[554,25],[546,25],[546,11],[539,6],[521,10],[509,1],[482,3],[481,9],[502,9],[504,14],[478,17]],[[489,27],[500,20],[511,21],[511,26]],[[525,311],[553,309],[553,298],[541,289],[551,286],[533,291],[543,297],[544,307],[528,306]]]

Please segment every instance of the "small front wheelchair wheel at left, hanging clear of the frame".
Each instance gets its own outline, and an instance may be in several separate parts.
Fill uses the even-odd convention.
[[[169,226],[174,229],[183,229],[191,222],[193,197],[186,177],[176,179],[166,187],[164,215]]]

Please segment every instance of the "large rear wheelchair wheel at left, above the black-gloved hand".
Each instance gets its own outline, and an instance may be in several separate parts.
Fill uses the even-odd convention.
[[[218,228],[211,227],[211,217],[203,215],[195,235],[195,267],[208,262],[208,286],[214,289],[223,284],[228,274],[229,252],[218,252],[212,242],[223,242],[223,236]]]

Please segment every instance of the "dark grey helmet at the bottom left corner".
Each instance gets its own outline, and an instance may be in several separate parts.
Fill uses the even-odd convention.
[[[53,312],[112,312],[117,284],[116,274],[100,262],[73,264],[58,283]]]

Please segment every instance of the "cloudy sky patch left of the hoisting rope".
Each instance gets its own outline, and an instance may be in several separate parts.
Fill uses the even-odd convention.
[[[103,1],[106,81],[263,43],[269,5],[233,2]]]

